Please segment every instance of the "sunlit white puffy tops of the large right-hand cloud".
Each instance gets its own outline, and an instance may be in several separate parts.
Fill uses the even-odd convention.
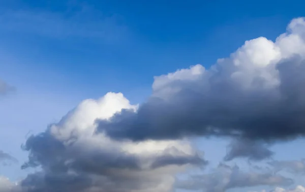
[[[153,90],[160,92],[175,85],[184,89],[182,86],[185,86],[187,81],[190,81],[189,84],[217,86],[212,84],[213,82],[206,82],[217,77],[220,77],[218,81],[233,81],[245,89],[275,88],[281,83],[278,69],[280,61],[296,55],[302,59],[305,57],[304,26],[304,18],[293,19],[288,25],[287,33],[280,35],[275,42],[265,37],[246,41],[229,58],[219,59],[217,64],[208,70],[201,65],[195,65],[189,69],[155,77]],[[260,84],[256,82],[258,78],[261,80]]]

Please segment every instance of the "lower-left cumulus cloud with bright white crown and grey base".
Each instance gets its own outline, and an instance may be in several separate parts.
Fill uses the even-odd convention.
[[[175,175],[204,167],[203,154],[185,140],[115,141],[96,133],[96,119],[109,119],[122,109],[137,110],[121,93],[82,101],[45,132],[23,146],[29,160],[22,166],[41,171],[20,182],[32,191],[170,191]]]

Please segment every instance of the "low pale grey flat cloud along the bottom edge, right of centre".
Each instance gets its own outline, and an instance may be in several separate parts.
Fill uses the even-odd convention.
[[[177,182],[177,187],[188,190],[224,192],[231,188],[251,187],[258,185],[290,185],[292,179],[271,173],[243,172],[238,166],[230,167],[220,163],[218,168],[205,175],[192,176],[185,181]]]

